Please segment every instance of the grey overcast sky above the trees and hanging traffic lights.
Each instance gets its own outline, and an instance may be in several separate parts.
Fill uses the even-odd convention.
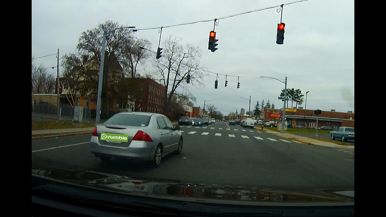
[[[295,0],[32,0],[32,56],[54,54],[58,48],[59,57],[74,53],[81,32],[107,20],[139,29],[161,27],[290,2]],[[227,87],[225,76],[219,76],[218,89],[214,89],[214,74],[205,77],[205,86],[192,86],[195,106],[202,108],[204,100],[211,100],[208,103],[224,115],[234,108],[248,111],[248,100],[240,97],[251,95],[251,110],[262,100],[283,108],[278,96],[284,83],[260,78],[269,76],[283,81],[287,77],[287,88],[300,89],[304,95],[309,91],[307,109],[354,111],[354,1],[308,0],[284,5],[282,45],[276,44],[280,16],[281,12],[271,8],[220,19],[214,53],[208,50],[213,21],[163,29],[161,43],[169,35],[182,37],[184,45],[201,48],[201,64],[208,71],[228,75]],[[135,36],[148,39],[156,51],[158,29],[138,31]],[[56,66],[55,55],[35,61]],[[48,72],[56,76],[56,68]],[[237,89],[237,78],[231,76],[254,78],[240,78]]]

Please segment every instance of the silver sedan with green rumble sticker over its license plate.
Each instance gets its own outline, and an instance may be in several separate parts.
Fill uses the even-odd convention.
[[[181,154],[183,139],[179,129],[162,114],[121,112],[95,127],[90,149],[102,161],[123,158],[149,161],[158,167],[164,156]]]

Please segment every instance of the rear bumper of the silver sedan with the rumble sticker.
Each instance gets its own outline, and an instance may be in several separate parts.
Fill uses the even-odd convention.
[[[154,142],[132,141],[129,147],[100,144],[97,136],[91,136],[90,151],[96,156],[150,161],[156,152]]]

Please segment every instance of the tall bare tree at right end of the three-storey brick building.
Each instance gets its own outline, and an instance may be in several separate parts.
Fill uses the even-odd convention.
[[[183,47],[180,44],[181,40],[180,37],[169,36],[164,41],[165,48],[161,59],[154,62],[157,69],[154,80],[163,83],[166,88],[164,112],[168,110],[173,95],[178,93],[178,88],[182,92],[189,92],[185,86],[188,74],[190,74],[189,85],[203,85],[202,79],[205,74],[202,71],[203,67],[200,66],[201,50],[191,45]]]

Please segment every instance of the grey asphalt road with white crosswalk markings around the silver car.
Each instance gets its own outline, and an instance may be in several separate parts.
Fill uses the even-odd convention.
[[[32,141],[32,169],[92,170],[135,178],[180,180],[223,186],[270,189],[354,188],[354,149],[309,146],[268,132],[228,122],[181,126],[180,155],[162,159],[159,168],[90,153],[91,135]]]

